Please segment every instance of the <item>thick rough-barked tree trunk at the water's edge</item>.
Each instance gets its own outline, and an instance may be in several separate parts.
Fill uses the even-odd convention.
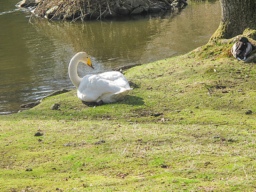
[[[256,0],[220,0],[221,22],[210,42],[243,34],[256,29]]]

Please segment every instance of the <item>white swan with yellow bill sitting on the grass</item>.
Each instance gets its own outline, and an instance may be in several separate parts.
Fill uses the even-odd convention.
[[[116,71],[80,78],[77,74],[79,62],[86,63],[89,67],[92,67],[92,63],[86,52],[78,52],[70,60],[68,67],[70,80],[77,87],[77,97],[83,102],[97,102],[98,104],[116,102],[123,100],[125,95],[132,90],[125,76]]]

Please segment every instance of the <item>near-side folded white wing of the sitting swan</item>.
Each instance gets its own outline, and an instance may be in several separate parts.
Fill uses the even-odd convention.
[[[105,79],[100,75],[90,75],[84,76],[81,80],[77,90],[77,97],[86,102],[97,102],[100,100],[102,95],[108,95],[108,97],[111,97],[111,95],[120,93],[122,90],[125,91],[125,88],[122,88],[122,86],[115,81]]]

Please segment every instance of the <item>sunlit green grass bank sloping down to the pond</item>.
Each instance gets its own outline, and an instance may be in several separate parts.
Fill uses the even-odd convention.
[[[229,48],[131,68],[122,102],[0,116],[0,191],[255,191],[255,63]]]

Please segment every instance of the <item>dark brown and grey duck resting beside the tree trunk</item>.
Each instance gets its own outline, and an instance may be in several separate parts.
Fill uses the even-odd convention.
[[[248,38],[242,37],[238,42],[236,42],[231,49],[233,56],[239,60],[243,61],[246,56],[252,51],[252,44],[248,41]]]

